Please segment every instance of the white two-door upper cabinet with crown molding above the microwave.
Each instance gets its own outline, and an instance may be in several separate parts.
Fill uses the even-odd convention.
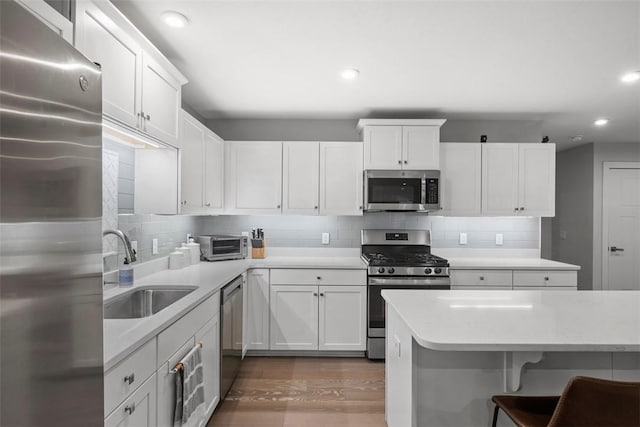
[[[364,168],[437,170],[445,120],[362,119]]]

